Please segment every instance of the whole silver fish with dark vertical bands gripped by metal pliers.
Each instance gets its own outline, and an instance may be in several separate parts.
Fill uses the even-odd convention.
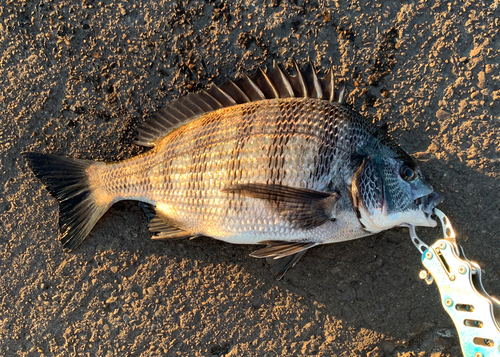
[[[312,247],[394,227],[435,227],[441,202],[418,163],[346,104],[333,67],[292,59],[169,102],[137,129],[149,148],[119,162],[23,156],[59,202],[77,248],[116,202],[136,200],[154,239],[261,244],[278,279]]]

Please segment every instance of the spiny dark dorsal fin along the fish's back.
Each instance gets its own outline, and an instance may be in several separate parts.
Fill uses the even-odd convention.
[[[274,63],[268,73],[259,68],[253,76],[243,74],[238,80],[228,79],[220,86],[213,85],[206,91],[190,93],[171,101],[139,126],[135,143],[155,146],[173,129],[193,117],[247,102],[296,97],[343,103],[345,87],[341,90],[335,88],[333,67],[320,79],[310,60],[302,71],[295,59],[292,61],[296,71],[293,76],[284,73]]]

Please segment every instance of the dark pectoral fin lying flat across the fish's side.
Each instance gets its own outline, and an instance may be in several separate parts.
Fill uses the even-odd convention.
[[[275,184],[238,184],[222,190],[265,200],[296,228],[312,229],[335,219],[340,194]]]

